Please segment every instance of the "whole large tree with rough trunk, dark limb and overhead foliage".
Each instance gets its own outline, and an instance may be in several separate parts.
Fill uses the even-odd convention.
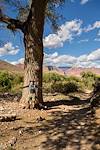
[[[63,0],[1,0],[0,21],[7,24],[10,30],[20,29],[24,35],[25,45],[25,76],[24,86],[30,80],[37,82],[38,92],[36,105],[43,103],[42,96],[42,66],[43,66],[43,30],[46,16],[55,25],[54,8]],[[18,16],[11,18],[5,15],[5,6],[16,7]],[[26,5],[25,5],[26,4]],[[23,7],[24,6],[24,7]],[[29,92],[23,89],[21,103],[27,105]]]

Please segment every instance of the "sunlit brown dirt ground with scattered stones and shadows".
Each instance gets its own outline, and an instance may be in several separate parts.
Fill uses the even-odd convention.
[[[18,102],[0,101],[0,150],[100,150],[100,108],[89,108],[89,94],[45,96],[48,110],[21,109]]]

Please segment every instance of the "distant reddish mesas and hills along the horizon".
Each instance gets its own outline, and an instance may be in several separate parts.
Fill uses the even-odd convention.
[[[17,64],[12,65],[6,61],[0,60],[0,70],[6,70],[8,72],[14,72],[14,73],[24,73],[24,65],[23,64]],[[43,72],[55,72],[61,75],[68,75],[68,76],[80,76],[82,72],[88,72],[91,71],[95,74],[100,75],[100,68],[71,68],[71,67],[55,67],[55,66],[44,66]]]

